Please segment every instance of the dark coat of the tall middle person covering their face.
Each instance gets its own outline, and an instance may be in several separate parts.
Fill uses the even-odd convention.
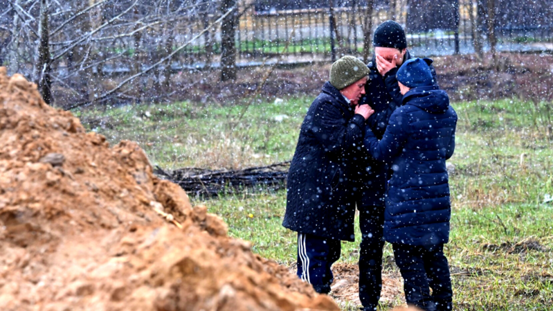
[[[410,58],[411,55],[407,51],[404,61]],[[397,67],[388,71],[384,76],[380,75],[377,69],[376,55],[373,55],[372,61],[367,66],[370,69],[369,80],[365,85],[365,96],[361,98],[360,104],[368,104],[374,109],[374,114],[368,118],[365,124],[370,127],[378,139],[382,139],[390,116],[397,107],[401,106],[404,96],[399,92],[399,85],[397,84]],[[437,85],[434,66],[431,64],[429,66],[434,83]],[[356,161],[359,165],[354,174],[358,181],[357,188],[359,188],[359,191],[357,193],[360,196],[357,198],[358,208],[384,206],[388,166],[382,161],[373,159],[367,152],[359,152],[356,158],[361,160]]]

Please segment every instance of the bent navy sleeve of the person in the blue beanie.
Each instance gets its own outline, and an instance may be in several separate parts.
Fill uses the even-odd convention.
[[[381,161],[390,161],[403,150],[407,139],[407,120],[397,109],[390,117],[384,136],[379,141],[369,127],[365,129],[363,145],[372,157]]]

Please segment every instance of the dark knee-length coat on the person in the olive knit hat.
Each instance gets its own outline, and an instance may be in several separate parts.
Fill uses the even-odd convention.
[[[323,238],[354,240],[352,148],[365,119],[329,82],[307,111],[287,179],[283,226]]]

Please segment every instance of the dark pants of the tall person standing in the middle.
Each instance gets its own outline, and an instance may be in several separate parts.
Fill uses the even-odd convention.
[[[358,206],[361,246],[359,251],[359,300],[365,311],[377,310],[382,290],[384,207]]]

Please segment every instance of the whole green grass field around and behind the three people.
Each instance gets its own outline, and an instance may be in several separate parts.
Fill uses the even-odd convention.
[[[312,98],[244,100],[241,106],[176,103],[78,112],[112,143],[138,141],[163,168],[242,168],[291,159]],[[252,103],[244,109],[248,103]],[[549,103],[548,105],[551,105]],[[451,159],[453,215],[446,245],[455,310],[553,310],[553,132],[547,103],[453,103],[459,115]],[[202,202],[230,235],[284,265],[296,235],[280,226],[285,193],[223,196]],[[357,226],[357,225],[356,225]],[[356,263],[355,243],[342,262]],[[386,245],[385,257],[392,256]],[[384,269],[397,269],[385,260]],[[347,305],[354,310],[355,305]]]

